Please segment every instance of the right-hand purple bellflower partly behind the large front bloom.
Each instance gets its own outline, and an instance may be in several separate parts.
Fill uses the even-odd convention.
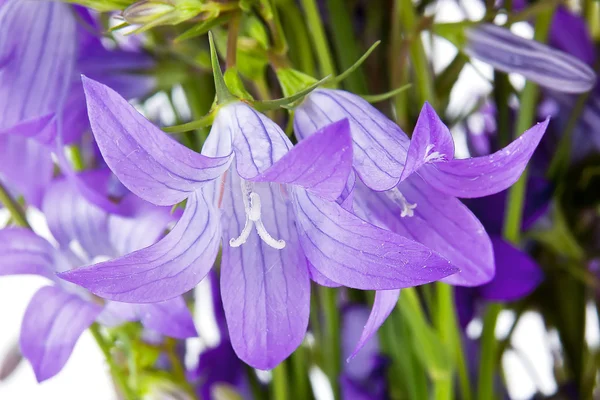
[[[490,281],[494,276],[491,240],[457,197],[487,196],[516,182],[548,120],[494,154],[455,159],[452,135],[429,104],[424,105],[409,139],[359,96],[318,89],[296,109],[295,132],[304,140],[342,118],[350,122],[353,165],[360,178],[352,199],[356,215],[423,243],[459,267],[460,272],[444,279],[446,283],[478,286]],[[398,290],[377,292],[357,350],[381,326],[398,296]]]

